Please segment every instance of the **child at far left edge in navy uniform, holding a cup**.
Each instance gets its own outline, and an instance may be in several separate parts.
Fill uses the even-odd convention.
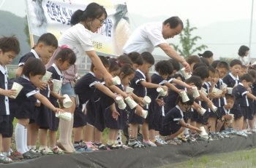
[[[20,44],[15,36],[0,38],[0,163],[20,160],[10,153],[12,122],[10,122],[9,97],[15,96],[13,89],[8,89],[8,72],[6,65],[20,52]],[[2,148],[3,147],[3,148]],[[3,151],[3,153],[2,153]]]

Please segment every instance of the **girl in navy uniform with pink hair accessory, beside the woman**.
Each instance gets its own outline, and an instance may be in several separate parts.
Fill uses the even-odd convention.
[[[70,65],[75,63],[76,57],[75,53],[69,49],[67,46],[61,46],[61,50],[58,52],[56,58],[56,62],[48,68],[48,71],[52,73],[51,79],[57,79],[61,82],[64,79],[62,71],[66,71]],[[50,103],[52,103],[55,107],[59,108],[59,103],[64,99],[64,97],[60,96],[55,92],[50,92]],[[59,103],[57,102],[59,100]],[[41,105],[45,107],[45,105]],[[56,132],[59,128],[59,119],[55,116],[53,111],[40,111],[37,124],[39,125],[39,140],[41,146],[39,151],[44,153],[47,150],[47,132],[49,130],[49,140],[50,140],[50,151],[52,153],[61,154],[63,151],[56,146]]]

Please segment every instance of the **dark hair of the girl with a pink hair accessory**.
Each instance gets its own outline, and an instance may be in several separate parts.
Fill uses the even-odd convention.
[[[73,52],[72,49],[64,48],[64,49],[61,49],[55,57],[55,60],[59,60],[59,59],[61,59],[62,63],[68,60],[69,64],[73,65],[77,58],[75,56],[75,52]]]

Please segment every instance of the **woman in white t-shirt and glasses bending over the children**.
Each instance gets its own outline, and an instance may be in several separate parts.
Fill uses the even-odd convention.
[[[89,4],[86,9],[80,10],[78,9],[71,17],[70,23],[73,25],[67,31],[65,31],[61,37],[59,38],[59,46],[66,44],[75,52],[77,56],[77,62],[79,63],[79,58],[83,56],[89,56],[91,59],[91,63],[99,69],[99,71],[103,74],[104,80],[107,85],[111,84],[112,76],[101,60],[96,54],[94,46],[92,44],[91,35],[98,31],[99,28],[102,27],[105,19],[107,18],[107,12],[104,7],[100,6],[97,3]],[[55,60],[55,56],[59,52],[59,48],[56,49],[56,52],[53,54],[51,60]],[[50,61],[48,63],[48,67],[53,63]],[[74,113],[75,111],[75,76],[77,73],[77,66],[72,65],[67,71],[64,71],[64,82],[61,87],[61,95],[69,95],[70,99],[73,101],[73,105],[71,108],[65,108],[65,111],[70,113]],[[71,121],[63,121],[60,120],[59,128],[60,128],[60,136],[57,145],[62,148],[67,153],[72,153],[75,151],[75,148],[72,145],[72,127],[73,127],[73,117]]]

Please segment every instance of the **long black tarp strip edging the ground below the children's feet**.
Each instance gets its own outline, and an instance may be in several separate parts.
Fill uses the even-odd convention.
[[[214,153],[239,151],[255,148],[256,134],[249,137],[233,136],[221,140],[182,145],[165,145],[143,149],[120,149],[116,151],[97,151],[65,155],[41,156],[14,164],[0,164],[0,167],[159,167],[179,161]]]

